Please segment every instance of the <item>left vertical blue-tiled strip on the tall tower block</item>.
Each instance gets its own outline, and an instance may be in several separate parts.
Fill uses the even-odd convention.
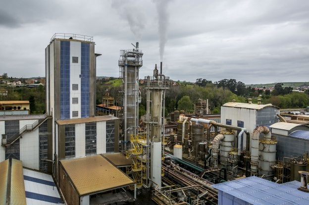
[[[60,41],[60,120],[70,119],[70,41]]]

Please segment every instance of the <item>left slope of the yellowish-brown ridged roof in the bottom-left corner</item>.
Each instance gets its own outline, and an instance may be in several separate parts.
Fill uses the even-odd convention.
[[[6,203],[8,160],[0,163],[0,204]]]

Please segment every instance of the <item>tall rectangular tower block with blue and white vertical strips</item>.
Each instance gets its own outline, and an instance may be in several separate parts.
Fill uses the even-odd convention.
[[[93,37],[54,34],[45,49],[47,112],[56,120],[89,118],[96,108]]]

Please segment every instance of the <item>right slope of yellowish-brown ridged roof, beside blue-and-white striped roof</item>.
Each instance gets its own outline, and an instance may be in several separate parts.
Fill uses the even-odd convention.
[[[11,205],[25,205],[26,192],[22,161],[12,159],[11,169]]]

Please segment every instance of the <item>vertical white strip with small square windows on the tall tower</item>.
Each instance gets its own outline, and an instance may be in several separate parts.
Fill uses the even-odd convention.
[[[78,57],[78,63],[72,63],[72,57]],[[78,118],[81,117],[81,42],[70,42],[70,118],[72,111],[78,111]],[[78,90],[72,90],[72,84],[78,84]],[[78,98],[78,104],[72,104],[72,98]]]

